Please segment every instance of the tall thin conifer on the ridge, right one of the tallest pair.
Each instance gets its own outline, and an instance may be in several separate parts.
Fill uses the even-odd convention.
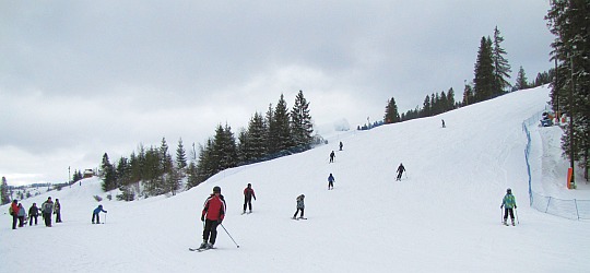
[[[494,61],[494,94],[500,95],[510,87],[510,83],[507,79],[510,79],[510,64],[506,57],[506,50],[502,48],[500,44],[504,41],[498,26],[494,28],[494,48],[493,48],[493,61]]]

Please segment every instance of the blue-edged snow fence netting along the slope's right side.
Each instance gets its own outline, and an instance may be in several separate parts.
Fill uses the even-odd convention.
[[[546,111],[546,109],[522,121],[522,130],[524,131],[524,133],[527,133],[527,147],[524,149],[524,158],[527,159],[527,171],[529,174],[530,205],[540,212],[548,213],[564,218],[590,219],[590,200],[565,200],[554,197],[545,197],[532,190],[531,165],[529,162],[529,155],[531,152],[531,133],[529,131],[529,127],[539,124],[543,111]]]

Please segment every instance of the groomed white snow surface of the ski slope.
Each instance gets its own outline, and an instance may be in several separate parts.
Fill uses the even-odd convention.
[[[108,201],[99,179],[85,179],[23,201],[28,210],[47,195],[59,199],[63,223],[51,228],[39,222],[12,230],[1,207],[0,271],[590,272],[590,223],[529,206],[521,123],[547,100],[548,90],[538,87],[437,117],[333,133],[328,145],[228,169],[170,198]],[[560,131],[545,129],[532,128],[533,149],[558,143]],[[560,153],[536,151],[531,168],[552,185],[544,193],[564,197],[570,191]],[[400,163],[408,173],[396,181]],[[578,181],[576,198],[590,199]],[[252,214],[240,215],[249,182],[258,199]],[[220,227],[216,250],[188,251],[202,240],[200,213],[214,186],[228,205],[223,225],[240,247]],[[516,195],[516,227],[500,224],[506,188]],[[293,221],[302,193],[308,219]],[[104,225],[91,224],[93,195],[105,198]]]

